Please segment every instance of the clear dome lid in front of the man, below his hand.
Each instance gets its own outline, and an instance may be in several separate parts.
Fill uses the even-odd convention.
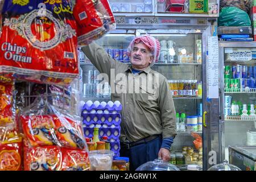
[[[155,159],[139,166],[136,171],[180,171],[176,166],[163,162],[162,159]]]

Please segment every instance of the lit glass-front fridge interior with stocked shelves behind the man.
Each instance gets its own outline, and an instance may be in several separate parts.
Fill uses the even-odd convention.
[[[191,161],[179,163],[203,165],[203,142],[195,147],[192,133],[203,140],[203,95],[204,79],[203,65],[205,57],[203,43],[205,43],[204,30],[168,30],[168,29],[117,29],[111,34],[96,41],[116,61],[130,64],[126,57],[127,47],[135,36],[150,34],[159,40],[161,45],[160,59],[152,69],[165,76],[169,82],[170,94],[174,98],[177,121],[177,136],[172,145],[172,153],[182,154],[185,147],[192,149]],[[93,78],[98,74],[96,68],[80,52],[82,57],[81,68],[84,83],[84,101],[108,101],[110,94],[99,91],[97,82]],[[85,60],[85,61],[84,61]],[[94,73],[94,76],[92,74]],[[89,84],[89,85],[88,85]],[[88,91],[88,86],[89,90]],[[103,88],[102,88],[103,86]],[[108,83],[100,85],[101,89],[108,88]],[[108,89],[107,89],[108,90]],[[192,160],[192,154],[194,158]]]

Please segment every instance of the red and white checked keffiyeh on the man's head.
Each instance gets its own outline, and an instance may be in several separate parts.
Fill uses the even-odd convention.
[[[136,37],[129,45],[127,48],[127,55],[130,57],[131,56],[131,51],[133,50],[134,44],[138,44],[142,42],[145,44],[151,51],[152,54],[154,55],[154,59],[152,63],[150,64],[150,67],[155,64],[156,61],[159,59],[160,55],[160,43],[158,39],[155,39],[154,37],[150,35],[143,35],[143,36],[138,36]]]

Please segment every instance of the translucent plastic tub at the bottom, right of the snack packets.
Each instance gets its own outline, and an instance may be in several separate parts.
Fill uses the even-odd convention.
[[[114,152],[111,150],[89,151],[90,171],[110,171]]]

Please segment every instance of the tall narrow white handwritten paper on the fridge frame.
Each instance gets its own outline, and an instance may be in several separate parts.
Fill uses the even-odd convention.
[[[218,37],[208,37],[208,98],[218,98]]]

